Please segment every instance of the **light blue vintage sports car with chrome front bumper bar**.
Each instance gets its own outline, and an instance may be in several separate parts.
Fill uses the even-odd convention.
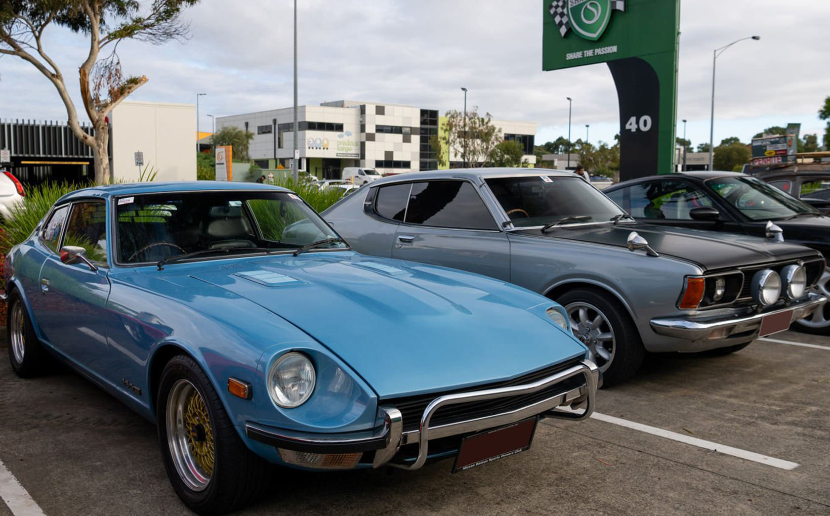
[[[293,192],[237,183],[62,197],[4,268],[21,377],[59,358],[159,428],[178,496],[237,509],[267,463],[453,471],[582,419],[599,381],[558,304],[362,256]]]

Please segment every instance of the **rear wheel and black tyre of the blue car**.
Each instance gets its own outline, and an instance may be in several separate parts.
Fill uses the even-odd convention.
[[[46,371],[49,357],[35,335],[26,304],[17,290],[8,298],[6,343],[9,361],[18,377],[31,378]]]

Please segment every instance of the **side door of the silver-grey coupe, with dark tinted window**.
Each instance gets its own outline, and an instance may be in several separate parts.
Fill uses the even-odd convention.
[[[439,179],[408,185],[406,210],[393,214],[401,221],[393,258],[510,281],[510,242],[472,183]]]

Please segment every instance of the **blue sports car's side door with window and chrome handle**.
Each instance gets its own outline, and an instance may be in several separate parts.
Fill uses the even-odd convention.
[[[82,367],[100,372],[106,360],[104,315],[110,295],[105,202],[74,202],[60,241],[53,251],[81,246],[95,270],[82,260],[65,264],[59,251],[52,252],[41,267],[35,317],[54,348]]]

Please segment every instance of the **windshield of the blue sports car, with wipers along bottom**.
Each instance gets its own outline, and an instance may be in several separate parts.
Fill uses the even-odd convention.
[[[246,249],[295,251],[337,234],[289,192],[167,192],[116,199],[118,261],[157,262],[172,256]],[[321,248],[344,248],[332,242]],[[224,254],[220,254],[224,251]],[[212,256],[205,253],[205,256]]]

